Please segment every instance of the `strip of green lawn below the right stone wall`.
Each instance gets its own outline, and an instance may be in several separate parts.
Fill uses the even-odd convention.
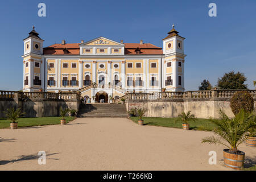
[[[132,121],[138,123],[139,117],[130,117]],[[177,121],[175,123],[176,118],[153,118],[153,117],[143,117],[144,125],[152,125],[152,126],[163,126],[163,127],[175,127],[182,129],[182,122]],[[208,119],[196,119],[196,122],[189,122],[189,127],[191,130],[197,130],[199,127],[210,127],[213,128],[214,124],[210,123]]]

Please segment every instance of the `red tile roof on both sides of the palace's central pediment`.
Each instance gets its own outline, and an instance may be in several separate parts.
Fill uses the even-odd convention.
[[[80,43],[71,44],[53,44],[44,48],[44,55],[79,55],[80,54]],[[125,55],[162,55],[162,48],[156,47],[153,44],[145,43],[124,43],[125,44]],[[68,49],[68,53],[64,53],[63,49]],[[141,49],[141,52],[137,54],[135,49]]]

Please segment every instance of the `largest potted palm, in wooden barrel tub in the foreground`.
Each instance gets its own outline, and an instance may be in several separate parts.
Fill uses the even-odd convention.
[[[241,170],[245,160],[245,152],[238,150],[238,146],[247,138],[246,134],[251,127],[256,126],[255,113],[246,113],[240,110],[234,118],[229,118],[224,111],[219,111],[220,119],[209,118],[217,127],[205,127],[219,137],[205,137],[202,143],[223,144],[228,147],[223,150],[225,167]]]

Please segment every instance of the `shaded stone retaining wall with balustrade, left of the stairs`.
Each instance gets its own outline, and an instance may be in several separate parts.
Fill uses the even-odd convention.
[[[59,116],[63,109],[79,109],[80,95],[77,93],[10,92],[0,91],[0,118],[5,118],[7,109],[18,107],[24,117]]]

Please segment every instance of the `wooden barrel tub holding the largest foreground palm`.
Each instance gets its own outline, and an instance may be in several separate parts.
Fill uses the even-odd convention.
[[[245,152],[238,151],[237,154],[231,154],[229,149],[224,149],[223,158],[225,167],[241,170],[245,161]]]

